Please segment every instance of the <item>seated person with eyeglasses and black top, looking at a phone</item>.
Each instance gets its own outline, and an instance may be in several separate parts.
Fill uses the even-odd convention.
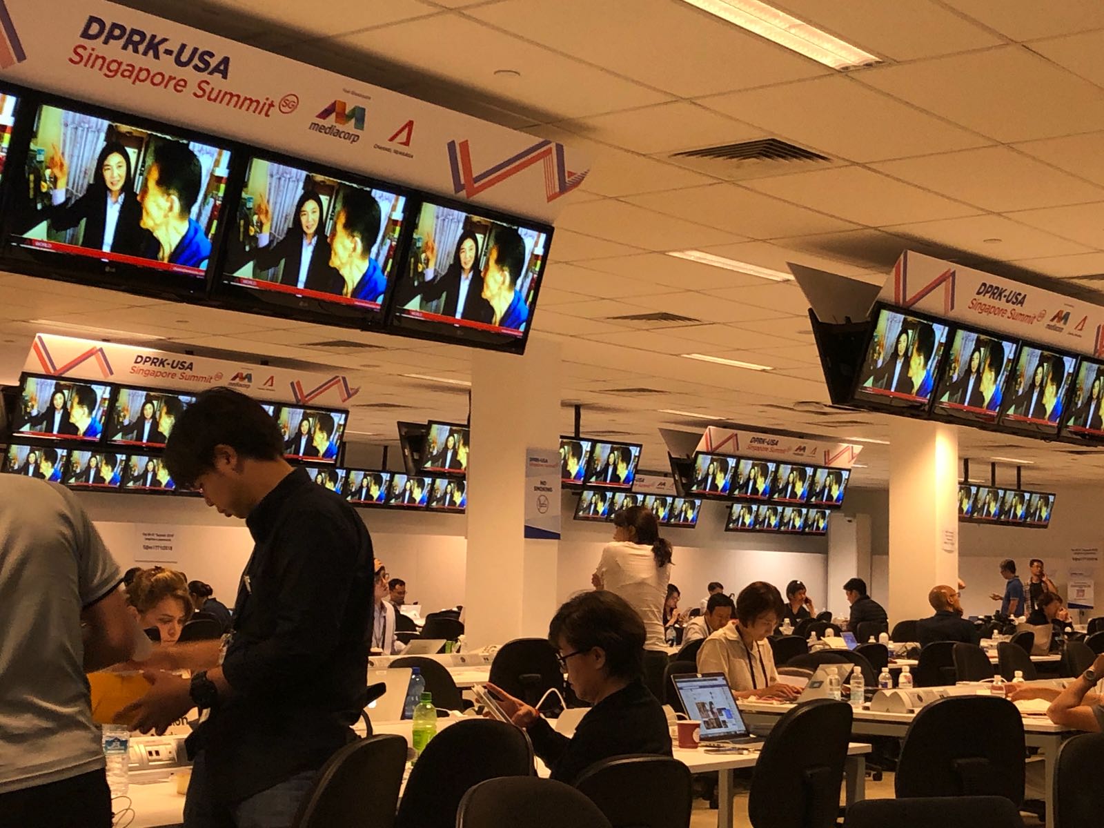
[[[593,705],[573,736],[556,733],[520,699],[487,687],[502,712],[529,734],[553,779],[571,784],[613,756],[671,755],[667,718],[641,680],[644,623],[628,603],[602,590],[576,595],[552,618],[549,641],[575,696]]]

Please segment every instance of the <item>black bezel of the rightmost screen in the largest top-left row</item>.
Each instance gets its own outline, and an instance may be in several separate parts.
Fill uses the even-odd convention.
[[[533,293],[533,300],[529,306],[529,319],[526,322],[524,330],[521,331],[521,336],[514,337],[508,333],[484,331],[477,328],[454,325],[450,322],[426,321],[405,316],[401,312],[397,305],[401,277],[396,275],[392,294],[389,297],[391,301],[388,307],[388,314],[384,322],[386,329],[389,331],[399,332],[401,336],[425,339],[432,342],[461,344],[471,348],[484,348],[492,351],[505,351],[507,353],[524,353],[526,346],[529,342],[529,335],[533,329],[533,319],[537,315],[537,308],[540,305],[541,290],[544,287],[544,274],[548,272],[549,256],[552,250],[553,226],[551,224],[545,224],[544,222],[531,220],[528,216],[509,215],[498,210],[485,208],[481,204],[473,205],[456,199],[418,192],[416,193],[415,199],[407,202],[410,211],[407,227],[410,230],[410,234],[407,235],[406,246],[403,251],[404,255],[401,264],[403,276],[405,276],[406,268],[410,265],[410,256],[414,247],[414,227],[421,219],[422,208],[427,203],[433,204],[434,206],[458,210],[469,215],[489,219],[490,221],[498,222],[499,224],[524,227],[526,230],[535,230],[539,233],[545,234],[544,258],[542,259],[541,268],[537,274],[537,290]]]

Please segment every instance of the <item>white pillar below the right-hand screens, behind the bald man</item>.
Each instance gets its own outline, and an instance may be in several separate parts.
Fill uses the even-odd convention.
[[[932,615],[927,593],[958,578],[958,434],[893,417],[890,429],[890,624]],[[879,596],[874,596],[880,601]]]

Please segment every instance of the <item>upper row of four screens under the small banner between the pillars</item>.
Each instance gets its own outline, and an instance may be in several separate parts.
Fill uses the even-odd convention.
[[[719,500],[842,506],[851,470],[707,454],[693,457],[689,493]]]

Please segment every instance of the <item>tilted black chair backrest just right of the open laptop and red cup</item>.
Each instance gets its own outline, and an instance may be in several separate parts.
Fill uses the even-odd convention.
[[[752,772],[747,816],[754,828],[830,828],[851,736],[851,707],[816,699],[771,731]]]

